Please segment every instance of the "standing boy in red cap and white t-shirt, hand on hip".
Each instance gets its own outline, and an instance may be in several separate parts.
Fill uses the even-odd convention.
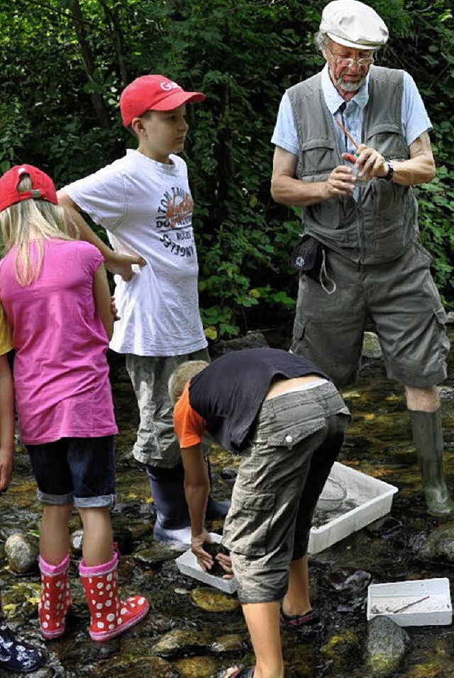
[[[120,320],[111,348],[126,354],[138,400],[133,456],[150,479],[155,538],[181,543],[190,543],[190,520],[167,381],[179,363],[206,360],[208,353],[199,315],[194,203],[178,153],[188,130],[186,104],[204,98],[162,75],[135,79],[121,94],[120,110],[138,148],[59,192],[82,238],[96,244],[106,265],[120,273],[115,278]],[[114,252],[79,210],[106,229]],[[226,502],[211,502],[209,516],[224,516],[227,509]]]

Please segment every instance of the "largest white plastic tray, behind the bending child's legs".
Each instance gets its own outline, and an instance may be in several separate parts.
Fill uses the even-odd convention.
[[[330,478],[343,485],[347,490],[345,500],[354,502],[356,507],[345,513],[336,512],[329,522],[320,527],[312,527],[308,553],[319,553],[389,513],[392,497],[398,491],[397,487],[388,482],[371,478],[337,461],[331,469]]]

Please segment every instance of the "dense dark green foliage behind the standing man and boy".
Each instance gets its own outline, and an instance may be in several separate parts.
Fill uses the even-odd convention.
[[[448,0],[374,0],[390,28],[383,65],[408,70],[431,115],[436,180],[419,189],[421,237],[453,301],[453,17]],[[162,72],[206,101],[189,106],[201,312],[211,338],[287,320],[295,211],[270,198],[280,98],[323,64],[319,0],[0,0],[0,169],[32,162],[57,186],[134,144],[127,82]],[[33,9],[31,9],[33,8]],[[297,210],[298,211],[298,210]],[[102,233],[102,232],[101,232]],[[101,235],[101,233],[99,235]]]

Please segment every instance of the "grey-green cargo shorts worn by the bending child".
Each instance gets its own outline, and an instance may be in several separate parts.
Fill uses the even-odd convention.
[[[306,553],[311,520],[350,413],[332,383],[265,400],[223,530],[240,602],[277,601]]]

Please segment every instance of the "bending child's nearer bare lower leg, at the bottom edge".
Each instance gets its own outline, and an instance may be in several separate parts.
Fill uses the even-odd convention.
[[[243,604],[255,653],[254,678],[284,678],[279,602]]]

